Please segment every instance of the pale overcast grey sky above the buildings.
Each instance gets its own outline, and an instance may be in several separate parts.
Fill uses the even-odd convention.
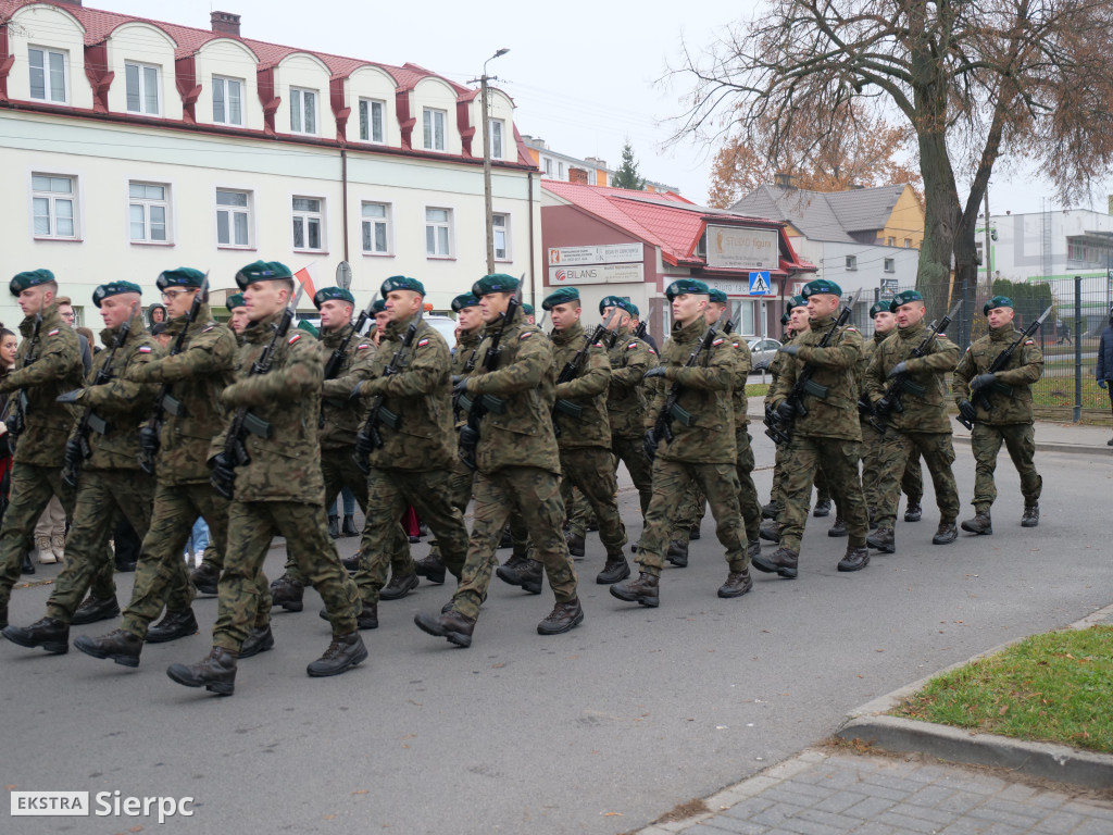
[[[86,0],[92,8],[207,29],[214,9],[243,17],[243,35],[293,47],[417,63],[466,82],[483,61],[518,106],[523,134],[575,157],[602,157],[612,167],[629,138],[642,176],[680,189],[697,203],[707,198],[711,153],[684,143],[664,148],[667,119],[682,111],[683,82],[654,82],[678,62],[682,39],[698,50],[758,0],[564,0],[560,3],[460,3],[445,0],[365,3],[353,0]],[[998,166],[991,210],[1038,212],[1050,184],[1024,166]],[[1093,208],[1104,212],[1113,181],[1099,187]],[[1057,204],[1054,206],[1060,208]],[[1081,208],[1089,208],[1083,206]]]

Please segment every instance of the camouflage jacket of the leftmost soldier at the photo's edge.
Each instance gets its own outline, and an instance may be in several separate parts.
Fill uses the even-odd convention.
[[[27,395],[27,425],[16,445],[14,461],[35,466],[61,466],[66,456],[66,440],[73,430],[77,410],[60,406],[59,394],[80,389],[85,381],[81,348],[77,333],[62,323],[58,305],[42,311],[38,343],[32,345],[35,317],[19,325],[23,335],[16,352],[16,365],[0,380],[0,392],[22,389]],[[23,367],[29,351],[33,362]],[[11,400],[20,396],[12,394]],[[12,404],[9,412],[16,407]]]

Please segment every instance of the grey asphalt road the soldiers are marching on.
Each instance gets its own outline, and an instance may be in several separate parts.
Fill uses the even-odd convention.
[[[756,440],[759,494],[771,444]],[[968,501],[973,460],[958,446]],[[371,658],[334,679],[305,665],[328,642],[305,611],[276,613],[274,651],[245,660],[236,695],[209,696],[165,675],[208,649],[200,635],[148,646],[129,670],[71,650],[47,656],[0,641],[0,776],[31,790],[193,797],[189,817],[7,817],[0,832],[621,833],[827,737],[846,711],[1012,638],[1070,623],[1113,601],[1104,455],[1037,459],[1043,520],[1020,528],[1017,479],[1003,458],[992,538],[930,544],[937,522],[899,524],[898,552],[839,574],[845,540],[811,519],[800,578],[757,574],[720,600],[713,523],[691,564],[664,573],[661,607],[610,597],[593,578],[598,539],[579,562],[583,626],[534,631],[552,599],[493,581],[470,649],[413,625],[444,587],[380,606]],[[762,469],[764,468],[764,469]],[[929,481],[928,481],[929,484]],[[634,520],[636,494],[621,494]],[[639,525],[631,525],[633,539]],[[344,552],[355,540],[341,540]],[[768,547],[768,546],[767,546]],[[415,546],[424,556],[426,546]],[[505,558],[509,551],[501,551]],[[280,571],[282,547],[267,561]],[[40,570],[35,579],[57,573]],[[130,576],[119,578],[121,602]],[[49,587],[17,589],[11,620],[41,617]],[[203,627],[215,599],[195,605]],[[115,622],[80,627],[99,635]]]

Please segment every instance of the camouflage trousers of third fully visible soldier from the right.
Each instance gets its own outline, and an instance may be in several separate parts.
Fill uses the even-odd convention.
[[[823,472],[846,523],[847,540],[865,548],[869,532],[866,499],[858,477],[859,444],[843,438],[820,438],[796,433],[785,445],[785,510],[780,522],[780,547],[800,552],[804,527],[811,510],[811,485]]]

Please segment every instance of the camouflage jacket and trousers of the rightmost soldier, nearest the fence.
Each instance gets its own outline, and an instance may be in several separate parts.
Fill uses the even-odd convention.
[[[952,384],[955,403],[971,399],[971,380],[978,374],[988,373],[997,356],[1020,335],[1021,332],[1009,322],[1003,327],[991,330],[986,336],[966,348],[955,369]],[[982,390],[993,409],[987,411],[976,404],[977,418],[971,432],[971,450],[976,462],[972,503],[979,513],[988,511],[997,498],[993,472],[997,466],[1002,442],[1021,475],[1021,493],[1024,495],[1025,507],[1040,501],[1043,479],[1033,463],[1036,440],[1032,415],[1032,384],[1043,375],[1043,364],[1040,346],[1034,340],[1025,340],[1013,353],[1008,365],[996,372],[993,383]]]

